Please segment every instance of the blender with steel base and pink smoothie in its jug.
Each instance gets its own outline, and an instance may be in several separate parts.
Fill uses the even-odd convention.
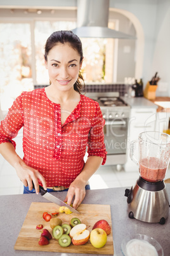
[[[130,157],[139,166],[140,177],[131,189],[125,190],[129,218],[165,224],[169,199],[164,178],[169,166],[170,136],[163,132],[141,132],[130,143]]]

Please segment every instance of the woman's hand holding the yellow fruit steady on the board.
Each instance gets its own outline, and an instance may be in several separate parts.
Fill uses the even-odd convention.
[[[70,184],[69,190],[67,192],[67,196],[65,197],[64,202],[67,202],[67,204],[72,203],[72,199],[74,198],[74,202],[72,204],[72,207],[74,209],[77,209],[77,207],[81,204],[82,200],[86,196],[86,189],[85,189],[84,183],[80,180],[76,179]]]

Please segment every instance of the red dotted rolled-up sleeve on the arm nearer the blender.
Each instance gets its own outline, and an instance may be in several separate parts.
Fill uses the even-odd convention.
[[[102,117],[100,106],[96,104],[96,114],[91,122],[91,130],[88,138],[88,157],[96,155],[103,158],[102,165],[107,159],[107,151],[104,143],[103,127],[105,120]]]

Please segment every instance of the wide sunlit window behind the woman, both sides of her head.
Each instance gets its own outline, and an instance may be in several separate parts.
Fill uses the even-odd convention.
[[[72,30],[76,22],[32,20],[0,23],[0,103],[7,111],[24,90],[34,85],[48,85],[44,66],[44,45],[54,31]],[[109,24],[114,29],[114,22]],[[84,62],[82,75],[86,83],[112,83],[114,39],[81,38]]]

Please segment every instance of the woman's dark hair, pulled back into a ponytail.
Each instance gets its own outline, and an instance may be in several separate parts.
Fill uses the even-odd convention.
[[[77,50],[77,52],[81,57],[80,62],[82,62],[82,59],[83,59],[82,43],[79,37],[76,36],[72,31],[56,31],[56,32],[53,32],[51,36],[49,36],[49,38],[46,41],[45,53],[44,53],[44,58],[46,61],[47,61],[47,56],[49,51],[58,43],[62,43],[62,44],[69,43],[72,48]],[[79,79],[82,80],[83,85],[81,84]],[[74,83],[74,90],[76,92],[81,93],[81,90],[84,89],[84,86],[85,86],[84,79],[82,78],[81,72],[79,72],[79,78]]]

